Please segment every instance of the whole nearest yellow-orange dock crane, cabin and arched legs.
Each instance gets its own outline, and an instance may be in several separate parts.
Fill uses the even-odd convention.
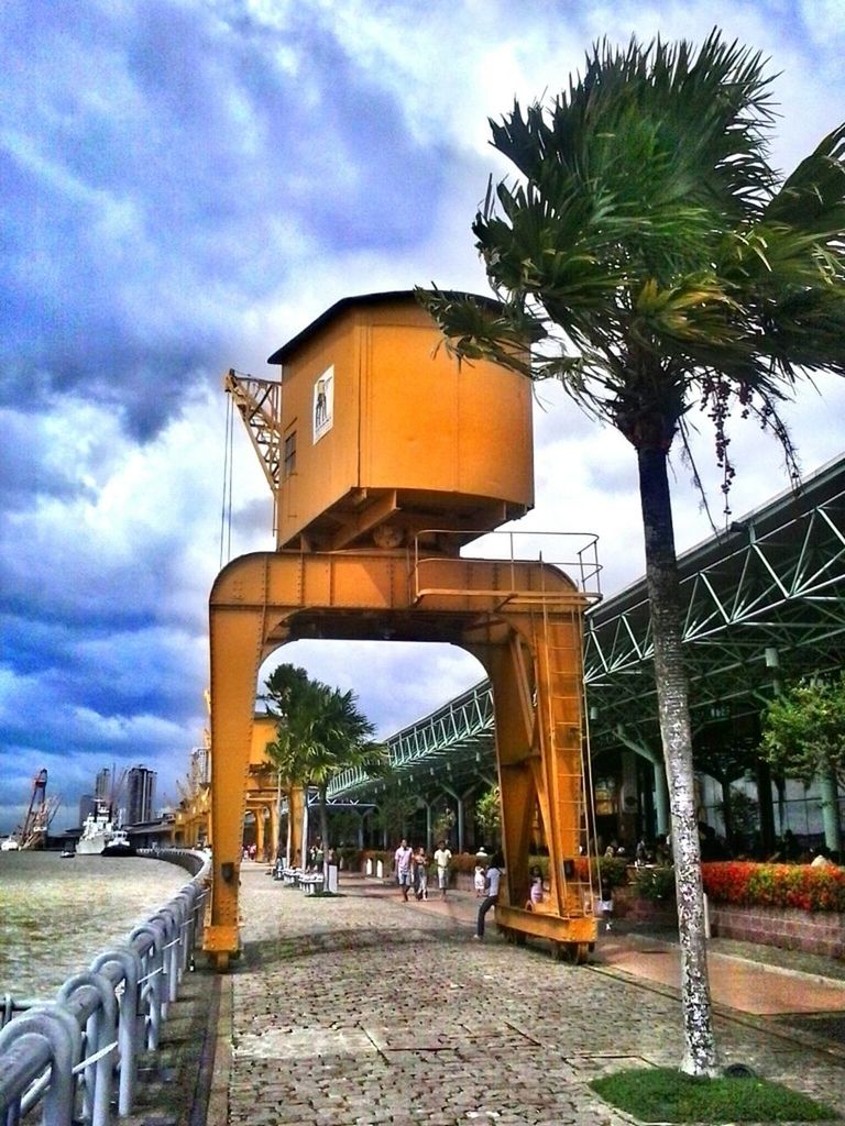
[[[301,637],[441,641],[478,658],[496,713],[506,860],[497,923],[514,941],[543,937],[577,960],[595,940],[592,873],[580,856],[581,635],[593,592],[545,555],[516,557],[513,533],[504,534],[505,557],[464,554],[533,506],[531,384],[482,360],[459,365],[441,342],[412,293],[348,297],[269,357],[278,379],[224,377],[273,492],[276,551],[230,562],[210,598],[214,869],[205,946],[221,969],[240,947],[258,670]],[[568,563],[581,570],[578,558]],[[550,854],[542,911],[526,910],[537,819]]]

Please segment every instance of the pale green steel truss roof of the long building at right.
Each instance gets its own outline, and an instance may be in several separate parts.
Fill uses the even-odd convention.
[[[779,679],[845,667],[845,457],[685,552],[678,566],[696,732],[757,713]],[[644,579],[588,611],[585,681],[594,753],[621,735],[659,750]],[[438,786],[450,771],[490,772],[492,740],[484,680],[388,740],[391,768],[424,792],[426,772]],[[350,770],[329,795],[373,787]]]

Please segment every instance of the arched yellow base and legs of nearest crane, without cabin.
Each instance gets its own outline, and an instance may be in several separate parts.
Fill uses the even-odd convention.
[[[210,598],[213,887],[205,948],[225,968],[240,947],[238,884],[255,692],[261,662],[304,637],[439,641],[472,653],[492,685],[506,881],[497,921],[521,940],[586,956],[595,940],[586,828],[582,615],[587,596],[542,562],[410,549],[243,555]],[[524,910],[535,808],[550,899]]]

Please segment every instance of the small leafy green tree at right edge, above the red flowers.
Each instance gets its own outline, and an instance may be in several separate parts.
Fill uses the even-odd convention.
[[[840,783],[845,783],[845,672],[801,680],[768,703],[762,754],[789,778],[818,780],[825,840],[842,857]]]

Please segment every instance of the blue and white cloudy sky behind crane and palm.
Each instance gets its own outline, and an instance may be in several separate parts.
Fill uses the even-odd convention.
[[[56,826],[104,766],[143,762],[176,796],[205,718],[222,372],[273,374],[267,356],[350,294],[484,292],[470,223],[507,171],[488,117],[558,92],[602,36],[713,25],[781,72],[774,155],[792,167],[845,107],[844,0],[7,0],[0,831],[43,767]],[[786,411],[806,472],[843,448],[845,386],[817,385]],[[536,435],[528,526],[597,533],[613,593],[642,571],[633,455],[553,387]],[[234,437],[224,560],[273,546]],[[786,479],[753,429],[732,448],[739,515]],[[675,494],[683,548],[710,529],[682,465]],[[445,646],[277,660],[354,688],[381,735],[482,674]]]

